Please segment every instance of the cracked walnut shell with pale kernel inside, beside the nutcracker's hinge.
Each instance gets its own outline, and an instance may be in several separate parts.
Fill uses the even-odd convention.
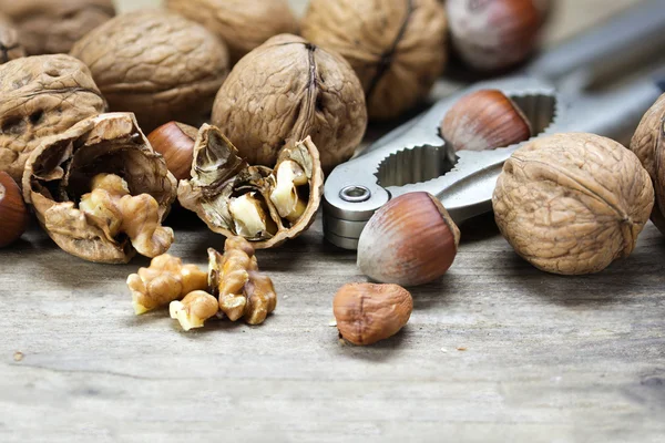
[[[194,146],[192,179],[181,181],[177,195],[211,230],[265,249],[307,230],[323,192],[324,173],[309,137],[283,148],[272,169],[248,166],[217,127],[205,124]]]

